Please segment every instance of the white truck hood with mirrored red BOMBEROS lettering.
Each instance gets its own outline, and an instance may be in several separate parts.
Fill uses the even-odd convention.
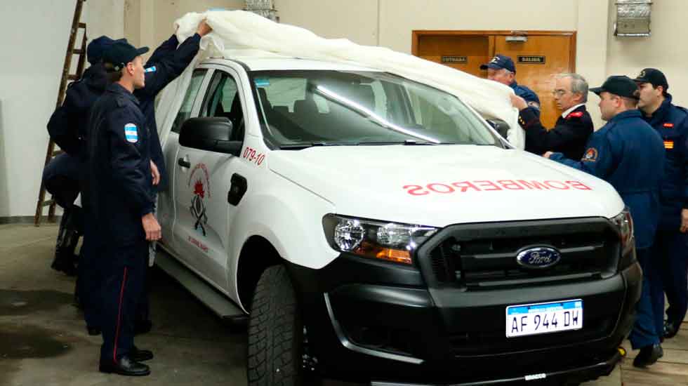
[[[445,227],[468,222],[603,216],[623,210],[611,185],[515,149],[477,145],[277,150],[274,173],[340,215]],[[306,204],[305,204],[306,205]]]

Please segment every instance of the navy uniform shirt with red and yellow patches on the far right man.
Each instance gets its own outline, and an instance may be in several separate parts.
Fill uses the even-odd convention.
[[[671,95],[666,95],[659,109],[651,117],[643,118],[661,135],[666,149],[659,226],[677,230],[681,226],[681,210],[688,208],[688,114],[673,105],[671,99]]]

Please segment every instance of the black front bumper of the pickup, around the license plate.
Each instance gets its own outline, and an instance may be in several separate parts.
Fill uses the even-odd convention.
[[[607,375],[633,327],[637,263],[606,279],[490,291],[429,288],[416,267],[341,255],[290,267],[308,350],[328,378],[373,385],[482,385]],[[583,329],[505,338],[508,305],[582,299]],[[386,383],[385,383],[386,382]]]

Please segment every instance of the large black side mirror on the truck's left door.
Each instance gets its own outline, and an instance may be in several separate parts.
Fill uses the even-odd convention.
[[[233,141],[232,122],[227,117],[187,119],[179,132],[179,145],[239,157],[242,141]]]

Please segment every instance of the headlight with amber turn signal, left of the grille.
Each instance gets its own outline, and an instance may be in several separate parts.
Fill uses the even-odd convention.
[[[411,255],[432,234],[433,227],[325,215],[325,237],[332,248],[366,258],[412,264]]]

